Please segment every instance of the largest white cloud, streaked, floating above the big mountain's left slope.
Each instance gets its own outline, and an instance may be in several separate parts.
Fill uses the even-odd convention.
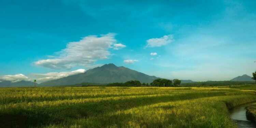
[[[74,66],[85,66],[97,59],[107,59],[109,48],[119,49],[125,45],[117,43],[115,33],[105,35],[89,35],[78,42],[69,42],[59,56],[34,62],[35,65],[52,69],[71,69]]]

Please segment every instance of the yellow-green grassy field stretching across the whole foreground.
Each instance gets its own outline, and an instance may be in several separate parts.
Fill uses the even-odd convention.
[[[0,88],[0,127],[234,128],[228,110],[255,101],[254,86]]]

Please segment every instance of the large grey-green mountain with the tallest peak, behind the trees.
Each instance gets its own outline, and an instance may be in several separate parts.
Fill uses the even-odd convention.
[[[89,69],[85,73],[63,77],[57,80],[47,81],[40,86],[61,86],[73,85],[80,83],[116,83],[127,82],[130,80],[138,80],[141,83],[151,83],[155,79],[160,79],[156,76],[149,76],[144,73],[125,68],[117,67],[113,63],[103,65],[94,69]]]

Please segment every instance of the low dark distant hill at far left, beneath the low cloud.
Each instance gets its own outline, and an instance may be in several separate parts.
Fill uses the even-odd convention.
[[[19,81],[19,82],[11,82],[0,80],[0,87],[34,87],[34,82],[31,81]],[[36,86],[38,84],[36,83]]]

